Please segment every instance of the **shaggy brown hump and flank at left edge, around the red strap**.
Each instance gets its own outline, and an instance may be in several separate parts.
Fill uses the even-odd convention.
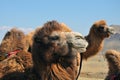
[[[32,57],[27,52],[26,45],[26,37],[22,31],[13,28],[6,33],[0,45],[0,77],[14,71],[24,72],[32,66]],[[19,52],[9,56],[15,50]]]

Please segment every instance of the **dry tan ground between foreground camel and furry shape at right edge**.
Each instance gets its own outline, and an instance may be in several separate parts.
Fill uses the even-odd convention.
[[[83,61],[81,74],[78,80],[104,80],[107,75],[108,66],[102,54]]]

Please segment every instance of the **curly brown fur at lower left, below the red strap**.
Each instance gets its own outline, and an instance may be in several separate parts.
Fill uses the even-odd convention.
[[[0,62],[0,78],[12,72],[25,72],[32,67],[30,53],[20,51],[17,55],[12,55]]]

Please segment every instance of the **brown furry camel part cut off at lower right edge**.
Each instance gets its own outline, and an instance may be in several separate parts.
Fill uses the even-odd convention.
[[[120,52],[108,50],[105,53],[108,62],[108,76],[105,80],[120,80]]]

